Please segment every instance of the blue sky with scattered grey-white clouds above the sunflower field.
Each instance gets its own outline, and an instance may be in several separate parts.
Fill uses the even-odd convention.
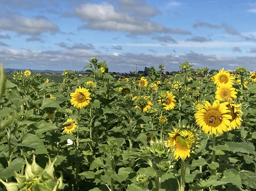
[[[256,70],[256,1],[1,0],[6,68],[109,71],[165,65]]]

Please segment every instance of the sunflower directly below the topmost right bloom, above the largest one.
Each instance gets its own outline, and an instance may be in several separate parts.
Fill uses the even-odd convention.
[[[217,87],[217,91],[215,92],[215,99],[216,100],[227,100],[230,98],[236,99],[237,92],[234,87],[230,87],[227,84],[223,84],[222,86]]]

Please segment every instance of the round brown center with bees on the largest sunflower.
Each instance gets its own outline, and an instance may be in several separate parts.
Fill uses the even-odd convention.
[[[211,127],[217,127],[222,122],[222,116],[221,113],[217,110],[210,110],[207,111],[204,115],[204,122]]]

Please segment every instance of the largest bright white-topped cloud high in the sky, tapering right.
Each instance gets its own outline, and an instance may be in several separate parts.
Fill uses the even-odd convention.
[[[126,2],[129,3],[128,1]],[[131,1],[131,4],[134,5],[135,1]],[[118,10],[109,3],[86,3],[77,6],[74,9],[74,14],[82,21],[87,22],[87,24],[79,27],[79,30],[91,29],[102,31],[119,31],[128,32],[131,34],[151,34],[154,32],[191,34],[190,31],[186,31],[184,29],[167,28],[158,22],[153,22],[149,18],[149,13],[138,15],[139,13],[137,13],[138,11],[136,11],[134,7],[128,11],[128,9]],[[133,14],[129,14],[129,12],[132,12]],[[156,14],[157,12],[155,11],[154,13]]]

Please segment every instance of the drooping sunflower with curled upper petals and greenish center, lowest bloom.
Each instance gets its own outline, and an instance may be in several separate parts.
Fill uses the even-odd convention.
[[[174,129],[174,133],[168,133],[168,147],[175,146],[171,152],[174,151],[174,158],[178,160],[181,158],[185,160],[190,156],[191,148],[195,145],[195,134],[187,129]]]

